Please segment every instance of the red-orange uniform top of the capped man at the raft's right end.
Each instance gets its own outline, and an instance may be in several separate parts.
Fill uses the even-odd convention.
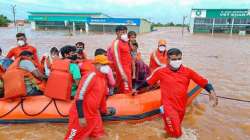
[[[161,53],[158,49],[154,51],[150,56],[149,68],[152,72],[154,69],[167,64],[167,52]]]

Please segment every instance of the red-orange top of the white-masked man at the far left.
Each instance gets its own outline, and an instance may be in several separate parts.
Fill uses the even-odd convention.
[[[9,53],[7,54],[6,57],[7,57],[7,58],[12,58],[12,57],[14,57],[14,58],[16,59],[17,57],[19,57],[19,55],[20,55],[21,52],[23,52],[23,51],[32,52],[33,55],[34,55],[34,61],[35,61],[36,63],[39,64],[39,60],[38,60],[38,55],[37,55],[37,50],[36,50],[36,48],[34,48],[33,46],[30,46],[30,45],[28,45],[28,44],[26,44],[26,45],[24,45],[24,46],[22,46],[22,47],[17,46],[17,47],[15,47],[15,48],[12,48],[12,49],[9,51]]]

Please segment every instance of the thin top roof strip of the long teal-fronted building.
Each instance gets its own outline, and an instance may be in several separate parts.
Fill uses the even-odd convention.
[[[28,12],[30,14],[44,15],[102,15],[100,12]]]

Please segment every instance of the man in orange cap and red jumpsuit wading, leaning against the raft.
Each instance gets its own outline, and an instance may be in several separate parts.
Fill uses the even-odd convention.
[[[95,57],[95,71],[85,74],[77,89],[75,101],[69,112],[69,130],[65,140],[83,140],[104,136],[101,114],[114,114],[114,108],[106,107],[107,70],[106,56]]]

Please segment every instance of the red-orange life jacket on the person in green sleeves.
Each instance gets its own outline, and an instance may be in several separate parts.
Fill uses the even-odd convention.
[[[69,69],[70,63],[68,59],[53,61],[44,95],[59,100],[70,100],[73,84],[73,76]]]

